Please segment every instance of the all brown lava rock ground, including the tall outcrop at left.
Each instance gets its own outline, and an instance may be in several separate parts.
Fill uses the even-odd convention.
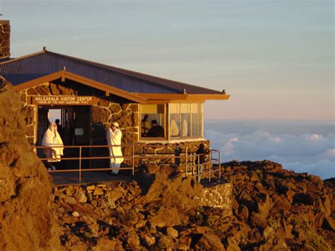
[[[0,250],[334,250],[334,179],[225,163],[230,214],[201,206],[206,181],[168,165],[141,167],[133,182],[55,187],[22,110],[0,78]]]

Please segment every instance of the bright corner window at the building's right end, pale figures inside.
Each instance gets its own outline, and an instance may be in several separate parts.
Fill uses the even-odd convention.
[[[170,137],[201,136],[201,103],[170,103]]]

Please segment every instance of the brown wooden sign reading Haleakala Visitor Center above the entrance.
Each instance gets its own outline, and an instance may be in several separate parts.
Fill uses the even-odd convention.
[[[93,96],[30,96],[33,105],[97,105],[98,98]]]

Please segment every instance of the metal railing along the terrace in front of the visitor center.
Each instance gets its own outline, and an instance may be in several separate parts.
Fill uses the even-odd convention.
[[[182,148],[178,145],[113,145],[121,146],[122,148],[131,148],[131,155],[128,156],[83,156],[83,150],[89,148],[92,150],[93,148],[109,148],[107,145],[99,145],[99,146],[52,146],[52,148],[64,148],[65,149],[78,149],[78,157],[61,157],[60,159],[55,158],[41,158],[42,161],[47,161],[47,163],[55,163],[59,160],[78,160],[78,168],[66,167],[66,169],[61,170],[48,170],[48,173],[70,173],[70,172],[78,172],[78,180],[81,182],[82,172],[95,172],[95,171],[111,171],[111,170],[131,170],[131,174],[135,174],[136,163],[142,163],[143,159],[166,159],[166,158],[179,158],[180,166],[182,172],[185,176],[191,175],[196,178],[198,182],[201,180],[201,176],[208,176],[208,180],[211,181],[211,178],[218,173],[218,177],[221,178],[221,152],[218,150],[210,149],[208,153],[196,154],[194,152],[190,152],[189,148],[184,147],[184,151],[180,153],[180,155],[176,156],[175,153],[151,153],[151,151],[144,150],[145,148]],[[34,149],[38,151],[38,149],[47,149],[50,146],[34,146]],[[90,153],[91,155],[91,153]],[[200,163],[200,156],[204,156],[206,161],[204,163]],[[216,158],[213,158],[216,156]],[[83,160],[110,160],[112,158],[124,158],[123,162],[129,162],[130,165],[113,168],[104,167],[104,168],[90,168],[83,166]],[[126,161],[125,161],[126,160]],[[128,160],[128,161],[127,161]],[[144,162],[146,163],[146,162]]]

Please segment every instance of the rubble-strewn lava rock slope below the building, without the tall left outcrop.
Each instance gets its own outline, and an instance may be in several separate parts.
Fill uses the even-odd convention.
[[[61,245],[72,250],[334,250],[334,182],[266,160],[224,167],[223,177],[233,182],[230,216],[194,203],[202,185],[168,166],[140,170],[139,183],[55,187]]]

